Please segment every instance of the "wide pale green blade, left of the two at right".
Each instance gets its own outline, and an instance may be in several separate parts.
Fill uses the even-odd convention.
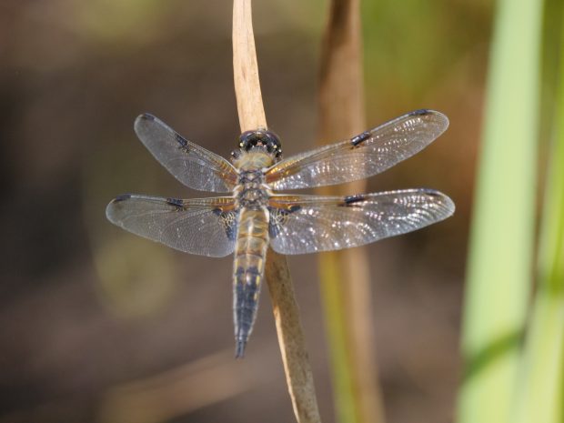
[[[542,1],[500,0],[470,233],[458,423],[510,421],[532,279]]]

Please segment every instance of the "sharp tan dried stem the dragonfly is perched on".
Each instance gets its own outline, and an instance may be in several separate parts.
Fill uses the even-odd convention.
[[[233,70],[241,131],[267,127],[258,81],[251,0],[233,3]],[[287,387],[299,423],[320,422],[313,375],[286,257],[268,249],[266,278]]]

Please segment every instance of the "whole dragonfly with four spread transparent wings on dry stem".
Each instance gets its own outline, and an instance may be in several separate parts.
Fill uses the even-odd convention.
[[[363,246],[427,227],[454,213],[446,195],[428,188],[351,196],[280,191],[332,186],[376,175],[413,156],[448,127],[423,109],[335,144],[282,157],[267,128],[243,132],[231,161],[188,141],[149,114],[136,135],[185,186],[225,196],[173,198],[124,194],[106,207],[110,222],[138,236],[207,257],[234,254],[235,356],[242,358],[257,317],[267,249],[285,255]]]

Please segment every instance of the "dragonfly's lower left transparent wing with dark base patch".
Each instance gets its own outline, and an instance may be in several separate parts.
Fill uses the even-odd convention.
[[[110,222],[186,253],[225,257],[235,248],[237,212],[232,197],[181,200],[126,194],[106,207]]]

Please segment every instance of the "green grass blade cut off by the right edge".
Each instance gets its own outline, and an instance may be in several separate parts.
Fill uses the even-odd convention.
[[[564,9],[563,9],[564,10]],[[562,14],[562,10],[559,11]],[[564,377],[564,15],[559,21],[555,131],[539,239],[539,288],[515,403],[517,423],[563,421]]]

